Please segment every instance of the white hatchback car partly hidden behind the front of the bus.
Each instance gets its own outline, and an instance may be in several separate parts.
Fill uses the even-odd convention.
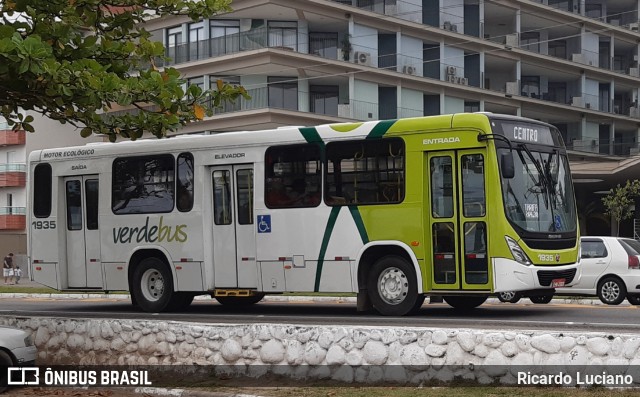
[[[556,288],[556,295],[597,296],[608,305],[619,305],[627,298],[632,305],[640,304],[640,241],[584,236],[580,249],[580,281],[572,287]],[[511,291],[498,294],[503,302],[515,303],[521,297]]]

